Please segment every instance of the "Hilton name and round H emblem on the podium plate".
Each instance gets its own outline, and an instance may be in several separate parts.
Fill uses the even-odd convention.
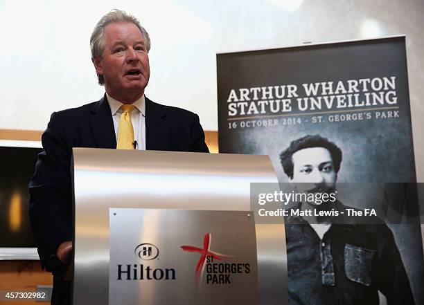
[[[152,243],[141,243],[134,250],[136,257],[152,261],[159,257],[159,249]],[[121,280],[169,280],[175,279],[174,268],[151,268],[143,264],[118,264],[118,281]]]

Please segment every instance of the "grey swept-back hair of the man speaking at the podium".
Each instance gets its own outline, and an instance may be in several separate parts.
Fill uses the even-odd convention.
[[[94,57],[101,59],[103,57],[103,50],[105,49],[105,40],[103,39],[103,35],[105,34],[105,28],[108,24],[118,23],[118,22],[130,22],[135,24],[137,28],[143,34],[145,39],[145,47],[148,52],[150,50],[150,37],[145,28],[141,26],[139,19],[134,17],[133,15],[127,14],[123,10],[111,10],[106,15],[100,18],[96,27],[91,33],[90,37],[90,48],[91,48],[91,62],[94,62]],[[98,84],[105,84],[105,78],[103,75],[98,75]]]

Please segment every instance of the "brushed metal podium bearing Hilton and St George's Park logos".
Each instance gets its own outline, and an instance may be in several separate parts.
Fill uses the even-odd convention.
[[[137,298],[137,304],[179,304],[180,295],[189,305],[193,298],[183,290],[195,279],[198,289],[190,286],[188,291],[209,293],[212,301],[199,303],[217,304],[213,299],[220,293],[231,300],[232,286],[221,285],[230,281],[229,275],[219,275],[224,268],[235,273],[231,281],[236,293],[256,295],[254,301],[243,304],[256,304],[256,299],[260,305],[286,304],[284,225],[255,225],[249,213],[250,183],[278,182],[267,156],[75,148],[71,172],[73,304],[136,304]],[[217,226],[213,233],[206,232]],[[227,245],[230,253],[218,251],[223,246],[220,239],[249,234],[256,234],[256,243],[234,239]],[[150,239],[139,241],[146,236]],[[166,241],[158,246],[162,237]],[[127,239],[136,247],[127,247]],[[205,252],[209,250],[218,252]],[[255,250],[257,259],[252,260]],[[121,264],[119,259],[125,255],[131,263]],[[132,264],[134,259],[139,263]],[[166,259],[173,266],[165,266]],[[199,260],[193,265],[193,277],[191,273],[180,276],[186,259]],[[213,266],[213,259],[229,263]],[[215,269],[209,268],[211,274],[199,281],[203,264]],[[251,277],[252,271],[257,277]],[[249,276],[243,272],[250,272]],[[169,287],[176,278],[179,286],[173,290]],[[112,279],[128,281],[112,283]],[[215,286],[209,291],[199,286],[202,281]]]

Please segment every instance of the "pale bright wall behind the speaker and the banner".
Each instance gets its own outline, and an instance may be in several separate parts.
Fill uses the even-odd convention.
[[[1,129],[43,130],[53,111],[103,94],[89,56],[96,21],[114,0],[0,0]],[[424,2],[420,0],[125,1],[152,37],[154,101],[217,130],[216,53],[407,35],[418,180],[424,181]],[[25,8],[25,10],[22,10]]]

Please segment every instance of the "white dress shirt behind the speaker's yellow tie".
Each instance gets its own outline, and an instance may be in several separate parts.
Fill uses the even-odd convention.
[[[118,139],[119,119],[123,110],[123,103],[112,98],[106,93],[107,102],[109,102],[110,111],[114,120],[115,136]],[[132,103],[135,108],[131,111],[132,128],[134,128],[134,140],[137,141],[136,149],[145,150],[145,99],[144,95]]]

